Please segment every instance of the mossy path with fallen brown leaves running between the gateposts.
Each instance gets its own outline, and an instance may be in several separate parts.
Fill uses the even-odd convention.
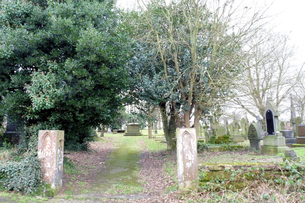
[[[67,154],[76,172],[64,173],[63,190],[47,202],[162,202],[175,184],[163,169],[166,152],[149,152],[145,138],[105,137],[91,144],[91,152]]]

